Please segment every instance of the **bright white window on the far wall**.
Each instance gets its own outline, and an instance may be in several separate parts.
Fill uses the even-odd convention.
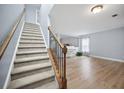
[[[82,39],[82,52],[89,53],[89,38]]]

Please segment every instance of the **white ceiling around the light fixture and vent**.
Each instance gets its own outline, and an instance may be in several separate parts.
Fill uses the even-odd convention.
[[[78,36],[124,26],[124,4],[104,4],[103,11],[93,14],[93,4],[54,5],[50,19],[61,34]],[[112,14],[118,14],[113,18]]]

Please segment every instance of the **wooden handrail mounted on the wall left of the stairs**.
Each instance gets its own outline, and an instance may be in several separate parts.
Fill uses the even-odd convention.
[[[24,13],[25,13],[25,8],[24,8],[22,14],[20,15],[19,19],[17,20],[16,24],[12,28],[12,31],[8,33],[8,35],[6,36],[4,42],[1,44],[1,46],[0,46],[0,59],[2,58],[2,55],[4,54],[4,52],[5,52],[5,50],[6,50],[7,46],[8,46],[11,38],[13,37],[13,35],[14,35],[18,25],[19,25],[19,23],[21,22],[21,19],[22,19]]]

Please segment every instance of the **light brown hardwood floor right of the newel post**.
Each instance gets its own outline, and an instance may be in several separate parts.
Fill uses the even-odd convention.
[[[68,88],[124,88],[124,63],[91,57],[67,58]]]

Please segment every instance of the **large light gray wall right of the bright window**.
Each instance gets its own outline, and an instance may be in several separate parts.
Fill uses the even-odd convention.
[[[86,36],[90,37],[91,55],[124,60],[124,27]]]

